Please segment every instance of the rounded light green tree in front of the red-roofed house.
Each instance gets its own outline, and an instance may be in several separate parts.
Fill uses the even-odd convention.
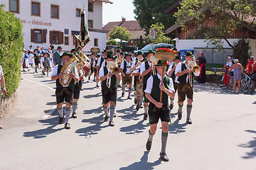
[[[129,41],[130,36],[132,35],[129,30],[125,27],[114,26],[108,33],[110,39],[119,38],[121,40]]]

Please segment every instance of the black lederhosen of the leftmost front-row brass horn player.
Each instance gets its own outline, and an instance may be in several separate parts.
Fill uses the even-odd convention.
[[[61,89],[56,89],[55,91],[56,101],[58,103],[69,102],[71,103],[73,97],[73,91],[69,87],[62,87]]]

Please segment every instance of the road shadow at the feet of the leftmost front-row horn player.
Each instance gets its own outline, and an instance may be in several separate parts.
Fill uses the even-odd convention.
[[[33,137],[34,139],[41,139],[41,138],[47,137],[47,135],[50,135],[54,132],[58,132],[64,129],[64,124],[63,124],[63,128],[55,129],[55,127],[59,124],[58,118],[56,117],[38,120],[38,122],[42,123],[43,126],[47,126],[47,127],[40,130],[34,130],[31,132],[24,132],[23,137]]]

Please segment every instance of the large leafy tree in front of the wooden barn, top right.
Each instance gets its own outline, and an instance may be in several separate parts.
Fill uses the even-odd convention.
[[[244,53],[250,30],[256,31],[255,0],[184,0],[175,16],[183,30],[193,28],[196,33],[203,33],[208,45],[220,49],[223,41],[227,42],[235,58]],[[228,40],[236,30],[241,36],[239,45]]]

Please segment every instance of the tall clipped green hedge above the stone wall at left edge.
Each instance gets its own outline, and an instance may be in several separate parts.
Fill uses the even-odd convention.
[[[14,13],[4,11],[0,6],[0,64],[6,84],[6,96],[14,94],[21,76],[23,49],[22,24]]]

